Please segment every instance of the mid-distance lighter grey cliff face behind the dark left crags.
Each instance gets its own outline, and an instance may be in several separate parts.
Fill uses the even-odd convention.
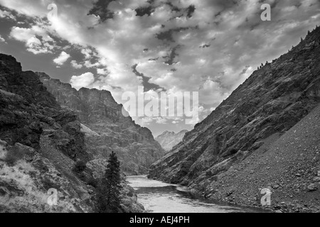
[[[37,74],[58,103],[79,116],[87,151],[95,157],[95,162],[107,159],[114,150],[122,162],[122,170],[139,175],[164,155],[151,131],[123,116],[122,105],[114,101],[110,92],[85,88],[77,91],[47,74]]]

